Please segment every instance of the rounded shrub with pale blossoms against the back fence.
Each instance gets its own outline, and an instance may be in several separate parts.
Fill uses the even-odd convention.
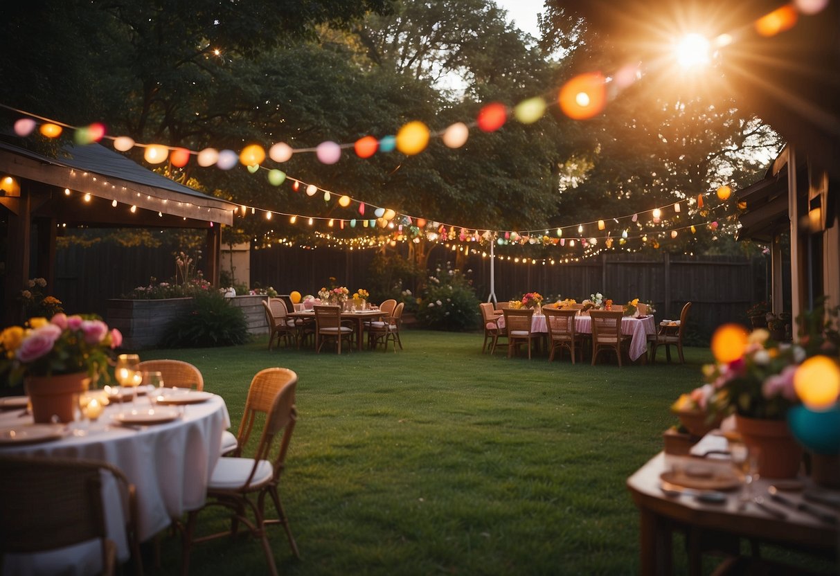
[[[479,300],[472,280],[449,267],[429,276],[417,308],[417,321],[434,330],[473,330],[479,321]]]

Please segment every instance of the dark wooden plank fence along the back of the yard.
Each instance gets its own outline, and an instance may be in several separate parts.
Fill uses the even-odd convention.
[[[300,249],[272,247],[251,252],[250,283],[273,286],[278,292],[314,293],[334,277],[351,290],[367,287],[371,250]],[[451,254],[433,254],[433,263],[445,264]],[[638,254],[601,255],[573,264],[522,264],[496,259],[496,299],[506,301],[524,292],[562,296],[580,301],[601,292],[616,303],[633,298],[653,301],[658,318],[678,318],[686,301],[693,303],[690,326],[697,339],[708,338],[722,322],[747,322],[748,306],[767,298],[764,259],[734,256],[684,256],[668,253],[656,258]],[[434,264],[430,264],[433,269]],[[465,271],[476,294],[486,301],[490,293],[490,259],[472,255]],[[60,249],[55,269],[55,296],[69,312],[105,315],[109,298],[150,276],[171,280],[175,264],[169,251],[97,245]],[[376,300],[375,295],[372,298]]]

